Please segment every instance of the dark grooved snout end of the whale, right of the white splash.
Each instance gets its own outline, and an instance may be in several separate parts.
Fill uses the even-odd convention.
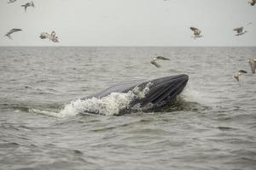
[[[189,76],[184,74],[154,79],[150,81],[152,85],[149,87],[148,93],[137,103],[141,103],[141,105],[165,105],[182,93],[188,81]],[[145,83],[139,86],[144,86]]]

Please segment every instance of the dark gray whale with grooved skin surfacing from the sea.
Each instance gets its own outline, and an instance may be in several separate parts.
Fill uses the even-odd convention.
[[[188,75],[180,74],[152,80],[136,79],[119,82],[97,94],[82,98],[82,100],[91,98],[102,99],[112,93],[132,92],[133,94],[138,94],[138,92],[143,92],[142,96],[131,100],[129,108],[132,108],[134,105],[139,105],[141,108],[156,110],[176,100],[177,96],[183,92],[188,81]],[[150,105],[150,107],[147,107],[148,105]]]

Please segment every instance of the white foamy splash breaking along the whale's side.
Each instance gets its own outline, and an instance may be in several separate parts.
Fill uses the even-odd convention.
[[[149,91],[151,82],[148,82],[142,90],[136,87],[128,93],[111,93],[101,99],[78,99],[65,106],[60,112],[61,117],[75,116],[79,113],[96,113],[104,116],[117,116],[120,111],[130,109],[130,103],[134,99],[143,99]]]

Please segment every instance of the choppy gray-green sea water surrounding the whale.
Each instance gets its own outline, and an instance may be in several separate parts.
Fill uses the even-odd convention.
[[[154,54],[171,61],[158,69]],[[0,169],[253,170],[251,57],[256,48],[0,48]],[[240,69],[249,73],[236,82]],[[79,101],[116,82],[181,73],[187,88],[162,112],[113,116],[123,94]]]

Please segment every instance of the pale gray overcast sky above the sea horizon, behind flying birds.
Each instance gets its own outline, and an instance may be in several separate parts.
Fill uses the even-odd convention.
[[[247,0],[34,0],[25,13],[30,1],[1,0],[0,46],[256,46],[256,5]],[[189,26],[205,37],[191,38]],[[249,32],[235,37],[237,26]],[[23,31],[1,36],[12,28]],[[38,37],[52,30],[60,43]]]

